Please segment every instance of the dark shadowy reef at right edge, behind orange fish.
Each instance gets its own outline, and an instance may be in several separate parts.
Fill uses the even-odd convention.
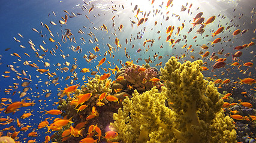
[[[227,93],[232,94],[228,99],[224,99],[224,102],[230,104],[236,103],[233,106],[224,108],[225,115],[239,114],[243,116],[243,120],[234,120],[236,122],[237,141],[239,142],[255,142],[256,138],[256,121],[252,119],[251,115],[256,114],[256,98],[254,91],[249,91],[245,88],[248,85],[240,85],[231,80],[230,83],[222,84],[222,88],[218,88],[220,93],[224,95]],[[245,94],[242,94],[245,93]],[[249,102],[252,104],[252,108],[244,107],[240,105],[240,102]]]

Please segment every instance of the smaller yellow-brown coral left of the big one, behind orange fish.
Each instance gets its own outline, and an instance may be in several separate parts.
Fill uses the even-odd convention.
[[[112,79],[105,79],[105,80],[98,80],[100,79],[99,75],[95,75],[94,78],[90,78],[88,80],[88,83],[81,86],[81,89],[77,89],[74,94],[71,96],[71,100],[67,98],[66,100],[61,99],[59,101],[58,109],[62,111],[61,116],[68,116],[67,118],[73,117],[74,124],[72,125],[75,127],[78,123],[85,122],[86,117],[88,117],[92,113],[92,107],[96,107],[96,110],[98,111],[98,116],[94,117],[94,119],[89,120],[88,124],[85,127],[85,130],[88,130],[90,125],[97,125],[101,130],[106,129],[107,126],[109,126],[110,122],[113,122],[113,113],[116,113],[118,111],[118,108],[122,106],[122,104],[119,104],[118,102],[111,102],[107,101],[106,98],[104,98],[101,102],[104,103],[103,106],[97,106],[97,102],[99,102],[98,98],[101,94],[106,92],[107,95],[110,95],[112,93]],[[77,97],[82,94],[88,94],[91,93],[92,96],[89,98],[88,101],[83,103],[82,105],[88,105],[84,110],[77,111],[76,109],[79,108],[81,105],[78,105],[77,108],[75,102],[77,102]],[[118,100],[124,100],[125,92],[114,94],[113,96],[117,97]],[[73,102],[74,101],[74,102]],[[70,128],[69,126],[64,126],[64,129]],[[56,139],[60,141],[61,134],[63,130],[56,132]],[[70,136],[70,138],[67,139],[66,142],[79,142],[81,139],[86,138],[86,132],[83,132],[83,137],[76,137]]]

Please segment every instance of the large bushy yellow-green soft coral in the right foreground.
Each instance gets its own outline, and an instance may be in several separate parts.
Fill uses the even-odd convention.
[[[171,57],[161,69],[165,87],[134,91],[110,123],[124,142],[236,142],[233,120],[212,82],[203,79],[203,62],[180,64]]]

